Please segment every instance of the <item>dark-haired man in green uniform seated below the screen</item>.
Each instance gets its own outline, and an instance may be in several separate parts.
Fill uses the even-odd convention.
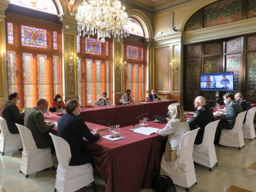
[[[222,129],[233,129],[235,122],[236,122],[236,116],[243,112],[243,108],[241,105],[237,104],[233,101],[234,96],[232,93],[226,93],[223,95],[223,101],[224,104],[227,105],[227,114],[220,114],[220,122],[217,126],[215,138],[214,138],[214,144],[219,144],[220,141],[220,134]]]

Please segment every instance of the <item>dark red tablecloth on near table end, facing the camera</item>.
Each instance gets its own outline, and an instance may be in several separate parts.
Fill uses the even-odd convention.
[[[163,128],[165,124],[149,122],[147,126]],[[85,143],[95,162],[95,167],[107,184],[106,191],[136,192],[150,188],[154,169],[161,161],[163,137],[145,136],[122,127],[120,136],[124,140],[110,141],[100,138],[96,143]],[[109,132],[101,131],[102,136]]]

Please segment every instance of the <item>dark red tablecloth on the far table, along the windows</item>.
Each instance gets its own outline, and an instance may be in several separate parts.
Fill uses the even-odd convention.
[[[120,125],[120,127],[125,127],[132,125],[136,117],[143,115],[148,111],[148,115],[145,115],[144,117],[149,118],[149,120],[154,120],[155,115],[166,116],[168,106],[174,102],[177,102],[177,100],[145,102],[141,104],[129,104],[126,106],[86,108],[81,110],[79,116],[86,122],[100,125]],[[136,123],[138,123],[138,121]]]

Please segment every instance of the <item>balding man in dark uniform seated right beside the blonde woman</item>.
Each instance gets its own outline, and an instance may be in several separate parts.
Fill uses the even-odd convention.
[[[212,113],[212,110],[205,106],[204,97],[196,97],[194,105],[196,111],[193,118],[189,120],[188,124],[191,131],[200,127],[196,135],[195,144],[201,144],[204,138],[205,126],[214,121],[214,115]]]

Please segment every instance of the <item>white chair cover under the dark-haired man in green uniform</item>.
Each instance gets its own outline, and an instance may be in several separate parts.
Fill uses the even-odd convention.
[[[239,149],[244,146],[242,126],[246,112],[247,111],[243,111],[237,115],[233,129],[221,130],[220,145],[238,147]]]

